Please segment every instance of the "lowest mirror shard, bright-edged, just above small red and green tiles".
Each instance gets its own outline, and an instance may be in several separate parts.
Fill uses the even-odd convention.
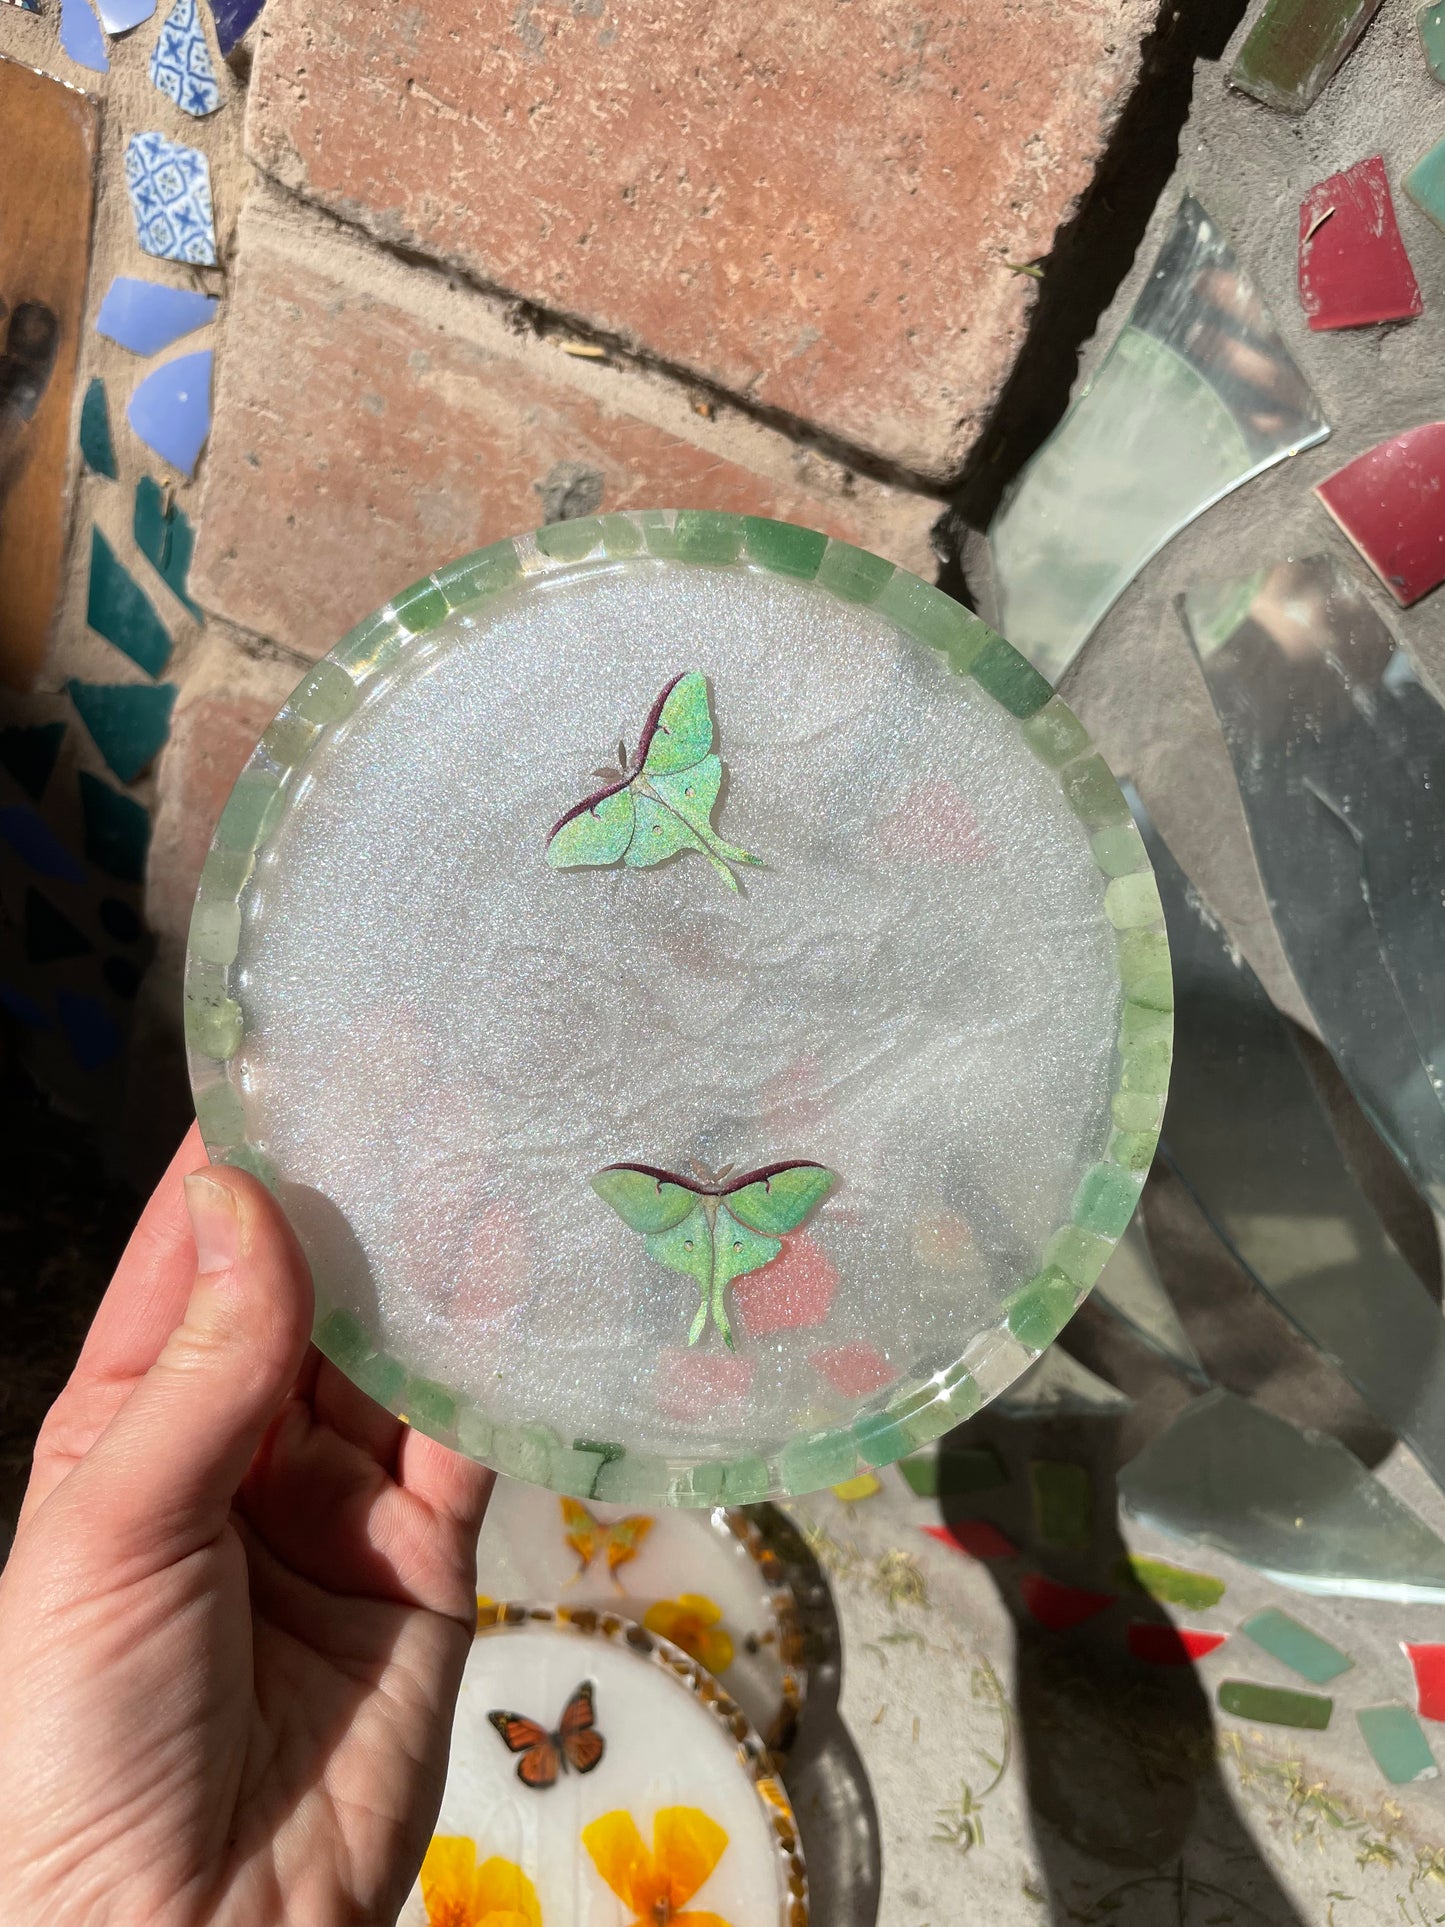
[[[1445,1540],[1339,1439],[1206,1391],[1119,1474],[1133,1518],[1295,1592],[1445,1603]]]

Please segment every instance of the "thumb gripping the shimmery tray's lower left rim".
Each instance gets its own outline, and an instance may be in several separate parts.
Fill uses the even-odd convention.
[[[185,1206],[197,1243],[185,1316],[66,1482],[112,1555],[144,1563],[220,1532],[312,1326],[310,1270],[262,1183],[212,1166],[185,1179]]]

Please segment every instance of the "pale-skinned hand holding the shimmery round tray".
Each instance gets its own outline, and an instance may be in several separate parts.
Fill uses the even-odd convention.
[[[395,1919],[441,1798],[489,1474],[356,1391],[310,1322],[274,1199],[193,1133],[44,1422],[0,1572],[4,1927]]]

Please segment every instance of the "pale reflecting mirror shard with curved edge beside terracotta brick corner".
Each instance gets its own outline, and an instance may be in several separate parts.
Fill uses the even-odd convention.
[[[1235,251],[1185,195],[1119,339],[994,516],[998,626],[1058,682],[1171,536],[1327,434]]]

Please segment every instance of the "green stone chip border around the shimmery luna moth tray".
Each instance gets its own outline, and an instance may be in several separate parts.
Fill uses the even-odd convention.
[[[235,983],[245,898],[306,761],[397,669],[410,646],[451,615],[495,595],[617,561],[659,559],[701,568],[759,568],[815,582],[869,607],[967,676],[1054,773],[1089,834],[1100,873],[1100,915],[1116,933],[1123,1008],[1114,1056],[1112,1135],[1062,1224],[1019,1280],[1004,1316],[961,1359],[913,1378],[848,1428],[801,1434],[742,1459],[661,1459],[597,1439],[563,1439],[545,1424],[497,1424],[476,1403],[393,1359],[318,1281],[316,1345],[380,1405],[428,1436],[516,1478],[578,1499],[626,1505],[753,1505],[836,1486],[892,1465],[952,1430],[1010,1386],[1064,1330],[1133,1216],[1164,1122],[1173,1052],[1169,940],[1144,842],[1089,732],[1038,671],[954,597],[882,557],[817,530],[761,516],[651,509],[557,522],[495,541],[412,582],[301,678],[260,738],[222,811],[200,873],[185,969],[185,1039],[197,1118],[218,1164],[276,1187],[266,1141],[247,1135],[245,1091],[233,1077],[245,1039]]]

